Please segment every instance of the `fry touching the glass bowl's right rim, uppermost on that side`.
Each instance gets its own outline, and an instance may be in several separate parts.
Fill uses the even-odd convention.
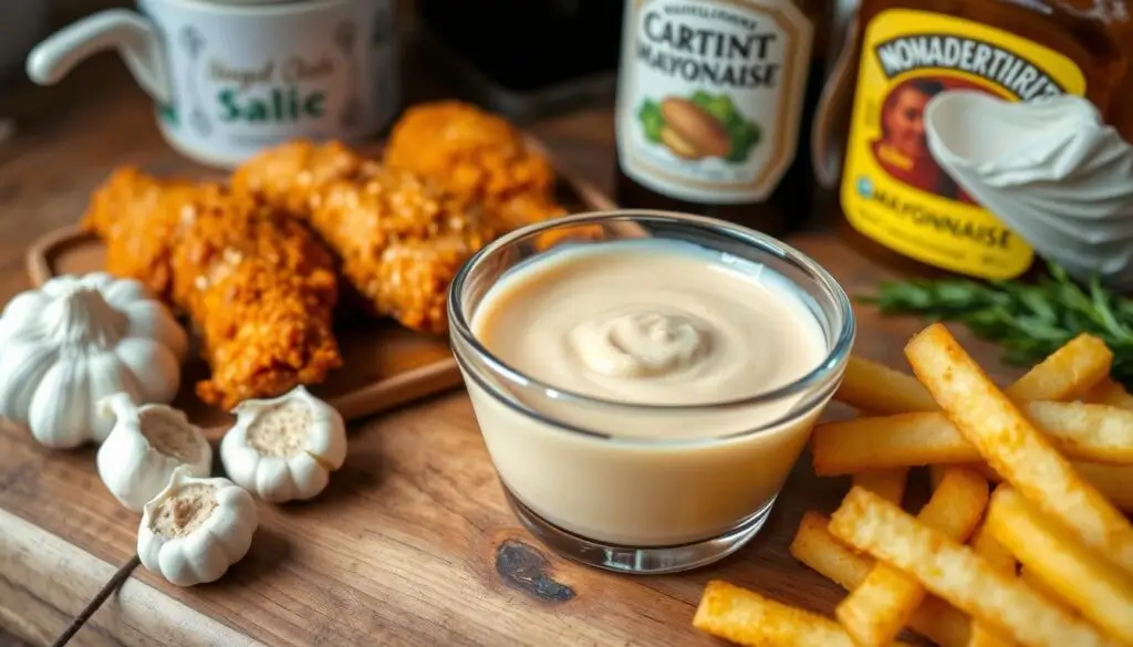
[[[853,355],[846,361],[834,398],[880,415],[940,409],[912,375]]]

